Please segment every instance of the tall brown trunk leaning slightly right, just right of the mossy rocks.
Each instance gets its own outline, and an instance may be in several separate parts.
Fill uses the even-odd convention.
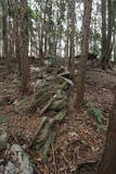
[[[79,61],[78,77],[75,82],[76,91],[74,97],[74,109],[76,111],[79,111],[83,103],[92,0],[85,0],[83,8],[85,8],[85,11],[83,11],[83,21],[82,21],[81,58]]]

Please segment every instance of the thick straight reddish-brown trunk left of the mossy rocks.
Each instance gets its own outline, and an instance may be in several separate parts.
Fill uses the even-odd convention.
[[[21,34],[20,34],[20,49],[21,49],[21,72],[22,72],[22,95],[29,90],[29,61],[28,61],[28,4],[27,0],[21,0]]]

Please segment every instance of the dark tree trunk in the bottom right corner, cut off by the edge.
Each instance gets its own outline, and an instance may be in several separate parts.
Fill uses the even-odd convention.
[[[98,174],[116,174],[116,87],[105,149]]]

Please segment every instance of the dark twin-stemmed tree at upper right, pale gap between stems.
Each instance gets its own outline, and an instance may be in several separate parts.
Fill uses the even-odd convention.
[[[111,67],[113,44],[114,5],[113,0],[102,0],[102,69]]]

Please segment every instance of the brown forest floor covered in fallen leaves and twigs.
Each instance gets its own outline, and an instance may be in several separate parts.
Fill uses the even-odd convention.
[[[53,96],[62,86],[62,84],[57,84],[56,76],[54,70],[40,71],[31,66],[31,86],[35,88],[35,92],[37,94],[43,87],[41,82],[43,84],[47,82],[46,94],[49,92]],[[35,86],[37,82],[39,87]],[[115,69],[106,72],[91,69],[87,72],[86,99],[82,111],[78,114],[68,113],[67,107],[65,107],[65,119],[61,122],[62,124],[55,124],[53,128],[55,136],[51,141],[48,158],[43,160],[44,151],[39,150],[39,135],[36,137],[33,148],[27,150],[35,165],[35,174],[91,174],[96,170],[104,148],[115,84]],[[48,101],[43,101],[42,107],[38,107],[35,113],[28,113],[28,108],[35,102],[35,96],[33,94],[21,98],[18,96],[20,85],[21,82],[16,74],[1,73],[0,130],[7,130],[10,144],[28,146],[42,119],[44,116],[53,117],[57,111],[49,109],[40,116],[40,111],[48,103]],[[66,92],[68,95],[68,89]],[[49,96],[49,100],[51,96]],[[66,101],[68,102],[68,98]],[[7,162],[10,157],[5,156],[5,150],[1,154]]]

